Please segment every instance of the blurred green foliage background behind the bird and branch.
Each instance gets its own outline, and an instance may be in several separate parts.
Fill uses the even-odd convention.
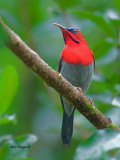
[[[96,61],[86,96],[120,126],[119,0],[1,0],[0,16],[56,71],[64,42],[52,23],[78,28]],[[117,132],[97,131],[75,111],[67,150],[61,123],[59,94],[0,43],[0,160],[120,160]]]

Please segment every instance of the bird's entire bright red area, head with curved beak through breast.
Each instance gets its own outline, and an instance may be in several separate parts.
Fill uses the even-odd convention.
[[[65,47],[62,50],[61,58],[69,64],[89,65],[93,62],[94,57],[88,48],[87,42],[76,28],[65,28],[60,24],[58,26],[63,34]]]

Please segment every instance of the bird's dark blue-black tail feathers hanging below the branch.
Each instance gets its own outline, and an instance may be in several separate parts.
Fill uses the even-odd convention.
[[[69,143],[73,133],[73,118],[74,118],[74,110],[70,116],[63,112],[63,121],[62,121],[62,142],[64,145],[69,147]]]

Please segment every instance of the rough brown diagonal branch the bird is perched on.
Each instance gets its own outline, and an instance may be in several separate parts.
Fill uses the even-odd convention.
[[[29,48],[21,38],[15,34],[0,18],[0,30],[3,33],[1,41],[8,47],[26,66],[41,77],[48,86],[54,88],[69,103],[71,103],[84,117],[86,117],[97,129],[113,128],[120,132],[120,128],[105,117],[83,93],[72,86],[60,73],[54,71],[45,63],[39,55]]]

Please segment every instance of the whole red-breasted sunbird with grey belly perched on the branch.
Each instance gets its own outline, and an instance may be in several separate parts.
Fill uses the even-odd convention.
[[[77,28],[65,28],[57,23],[53,25],[61,29],[65,43],[60,55],[58,71],[68,82],[85,94],[90,86],[95,67],[93,53]],[[69,148],[75,107],[61,95],[60,99],[63,107],[61,138],[63,145]]]

